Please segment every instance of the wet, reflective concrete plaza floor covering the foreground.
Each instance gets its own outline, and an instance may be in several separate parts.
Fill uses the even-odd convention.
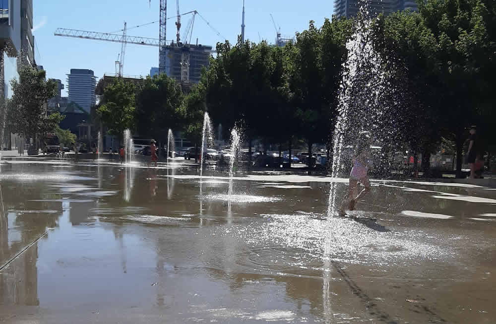
[[[0,322],[496,322],[494,190],[173,166],[2,161]]]

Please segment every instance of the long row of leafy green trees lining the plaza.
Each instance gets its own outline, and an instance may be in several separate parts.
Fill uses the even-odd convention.
[[[401,121],[401,140],[390,150],[407,146],[415,156],[429,157],[443,142],[453,143],[461,157],[466,129],[474,124],[487,139],[485,147],[494,150],[489,141],[496,126],[493,2],[427,0],[418,13],[381,15],[369,25],[334,19],[316,28],[310,21],[309,29],[284,48],[241,39],[235,45],[219,43],[217,56],[189,93],[165,75],[148,77],[139,89],[117,80],[105,89],[98,116],[118,136],[129,128],[165,138],[172,128],[198,142],[208,110],[226,133],[242,127],[250,148],[255,138],[290,147],[304,139],[311,150],[314,143],[332,141],[341,80],[349,72],[343,68],[346,42],[360,27],[370,29],[366,42],[386,58],[384,65],[394,66],[391,86],[401,90],[391,101],[397,105],[393,112]],[[429,161],[424,162],[427,168]],[[461,163],[458,158],[458,172]]]

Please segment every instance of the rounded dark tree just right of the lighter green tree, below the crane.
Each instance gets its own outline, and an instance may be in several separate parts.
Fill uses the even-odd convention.
[[[136,130],[140,136],[167,138],[169,129],[181,128],[183,93],[179,84],[166,74],[147,76],[136,94]]]

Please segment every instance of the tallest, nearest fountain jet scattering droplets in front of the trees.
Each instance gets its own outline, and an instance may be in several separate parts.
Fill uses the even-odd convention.
[[[333,133],[332,178],[341,175],[344,168],[343,147],[355,147],[358,134],[369,131],[376,144],[386,144],[394,130],[391,114],[391,94],[395,88],[389,82],[394,73],[387,57],[375,50],[372,20],[367,7],[361,7],[355,23],[355,33],[346,43],[348,57],[343,64],[338,97],[338,118]],[[342,175],[347,177],[348,175]],[[327,216],[337,214],[337,183],[331,182]]]

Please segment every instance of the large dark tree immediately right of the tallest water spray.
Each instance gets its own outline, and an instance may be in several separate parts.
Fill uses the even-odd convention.
[[[396,125],[401,129],[396,140],[408,143],[413,151],[414,169],[418,153],[423,153],[427,172],[431,152],[441,140],[437,42],[422,15],[415,12],[380,17],[373,28],[378,51],[394,66],[391,86],[401,89],[394,103]]]

